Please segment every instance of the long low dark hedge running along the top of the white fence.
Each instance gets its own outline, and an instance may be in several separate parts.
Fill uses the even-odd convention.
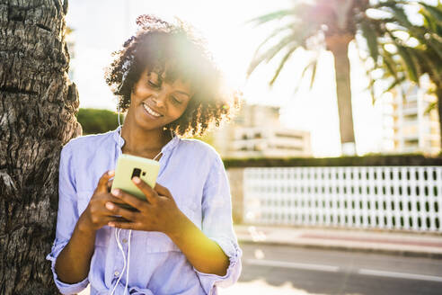
[[[244,158],[223,159],[226,168],[234,167],[302,167],[302,166],[385,166],[442,165],[442,157],[422,155],[377,155],[341,157]]]

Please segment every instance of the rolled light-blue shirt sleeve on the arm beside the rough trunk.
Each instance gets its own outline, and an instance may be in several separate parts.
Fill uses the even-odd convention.
[[[89,281],[87,277],[82,282],[69,284],[58,280],[55,271],[57,256],[65,248],[74,232],[78,212],[76,210],[76,190],[74,167],[72,166],[72,152],[68,145],[62,149],[58,174],[58,211],[57,231],[51,252],[46,259],[51,262],[51,270],[54,275],[54,282],[62,294],[75,294],[83,291]]]

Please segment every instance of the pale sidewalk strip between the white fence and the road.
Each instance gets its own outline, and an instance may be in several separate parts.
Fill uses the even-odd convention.
[[[442,235],[379,230],[235,225],[240,243],[304,246],[442,259]]]

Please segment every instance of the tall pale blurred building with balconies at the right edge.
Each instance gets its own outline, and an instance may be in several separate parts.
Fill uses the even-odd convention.
[[[437,98],[428,94],[429,80],[420,87],[404,83],[384,100],[384,151],[390,153],[440,152],[438,111],[427,112]]]

